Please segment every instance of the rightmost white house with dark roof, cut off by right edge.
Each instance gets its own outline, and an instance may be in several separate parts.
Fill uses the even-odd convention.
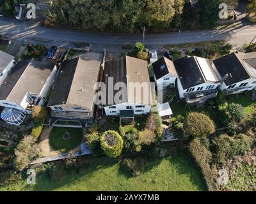
[[[225,78],[221,91],[236,94],[256,87],[256,52],[234,52],[213,61],[218,77]]]

